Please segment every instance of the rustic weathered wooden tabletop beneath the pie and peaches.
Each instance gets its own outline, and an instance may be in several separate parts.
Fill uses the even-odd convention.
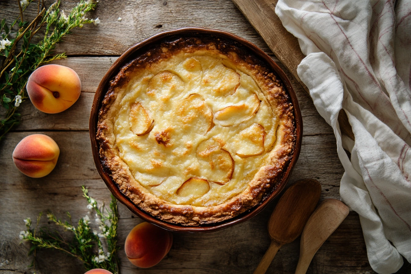
[[[50,2],[50,1],[46,1]],[[69,9],[73,0],[62,0]],[[16,1],[1,0],[0,18],[15,18]],[[25,229],[23,219],[35,219],[39,212],[52,210],[64,217],[70,211],[74,220],[88,214],[87,202],[81,197],[81,185],[90,189],[98,201],[108,202],[110,191],[95,168],[88,119],[100,79],[117,56],[129,46],[164,30],[185,26],[201,26],[232,32],[252,41],[268,53],[284,71],[263,39],[252,28],[230,0],[100,0],[90,17],[101,19],[98,26],[85,25],[74,30],[58,46],[69,58],[56,62],[74,69],[80,76],[82,92],[79,100],[67,111],[46,114],[35,109],[30,101],[22,104],[23,122],[0,144],[0,273],[31,273],[27,266],[28,246],[19,244],[18,233]],[[122,21],[117,21],[121,17]],[[316,112],[307,94],[288,74],[296,90],[304,135],[300,158],[290,183],[301,178],[315,178],[322,184],[321,200],[339,198],[339,180],[344,172],[336,153],[331,127]],[[18,172],[12,161],[16,144],[25,136],[43,133],[60,147],[60,157],[53,172],[32,179]],[[253,219],[208,234],[174,234],[170,253],[150,269],[137,269],[125,256],[123,245],[128,232],[139,218],[119,205],[119,244],[121,272],[127,273],[252,273],[269,245],[267,221],[275,202]],[[42,224],[46,224],[46,221]],[[284,245],[272,261],[267,273],[294,273],[299,254],[298,238]],[[55,251],[37,253],[37,273],[83,273],[74,258]],[[398,273],[410,273],[406,262]],[[308,273],[375,273],[367,253],[358,214],[351,212],[314,256]]]

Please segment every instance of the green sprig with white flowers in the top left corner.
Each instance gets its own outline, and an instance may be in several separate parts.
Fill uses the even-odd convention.
[[[0,104],[5,109],[2,111],[5,115],[0,120],[0,141],[20,122],[18,108],[21,101],[28,98],[25,86],[32,71],[48,62],[67,57],[65,53],[52,53],[55,45],[70,30],[100,22],[99,18],[85,18],[85,14],[97,5],[91,0],[81,0],[67,15],[64,11],[60,12],[60,0],[48,8],[44,6],[44,0],[38,0],[35,19],[31,23],[23,21],[25,9],[34,1],[37,2],[17,1],[20,14],[16,20],[8,25],[4,18],[0,23]],[[39,37],[37,43],[32,43],[34,37]]]

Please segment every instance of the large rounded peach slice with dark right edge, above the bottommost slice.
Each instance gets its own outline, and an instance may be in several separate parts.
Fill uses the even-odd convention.
[[[217,184],[225,184],[233,177],[234,160],[212,138],[200,143],[196,151],[203,175]]]

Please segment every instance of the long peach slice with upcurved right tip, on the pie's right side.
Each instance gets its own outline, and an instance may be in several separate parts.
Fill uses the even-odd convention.
[[[227,106],[214,114],[215,123],[223,127],[240,124],[251,119],[260,108],[260,100],[253,93],[246,101],[247,104]]]

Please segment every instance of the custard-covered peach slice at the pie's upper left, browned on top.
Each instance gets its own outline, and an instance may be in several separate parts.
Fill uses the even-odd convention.
[[[150,79],[146,93],[168,101],[175,93],[182,92],[184,87],[184,81],[178,75],[170,71],[162,71]]]

